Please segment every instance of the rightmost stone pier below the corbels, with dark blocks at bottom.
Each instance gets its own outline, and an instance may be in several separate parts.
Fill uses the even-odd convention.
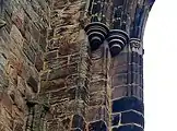
[[[142,47],[138,39],[130,45],[113,61],[113,131],[144,128]]]

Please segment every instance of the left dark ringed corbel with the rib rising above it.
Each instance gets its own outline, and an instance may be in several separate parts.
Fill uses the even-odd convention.
[[[88,37],[91,50],[94,51],[107,38],[107,12],[108,3],[106,0],[91,0],[88,5],[88,13],[91,15],[91,23],[85,26],[85,32]]]

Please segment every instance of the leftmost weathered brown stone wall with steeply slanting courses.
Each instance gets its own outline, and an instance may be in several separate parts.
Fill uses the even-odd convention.
[[[31,130],[46,49],[47,0],[1,0],[0,131]]]

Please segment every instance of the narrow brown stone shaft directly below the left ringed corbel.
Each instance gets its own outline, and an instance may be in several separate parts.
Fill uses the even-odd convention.
[[[106,45],[91,55],[90,103],[87,107],[88,131],[107,131],[110,121],[110,53]]]

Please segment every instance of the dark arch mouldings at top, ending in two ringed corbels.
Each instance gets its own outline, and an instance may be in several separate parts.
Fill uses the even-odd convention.
[[[105,25],[104,23],[108,24],[110,28],[107,38],[109,51],[111,57],[116,57],[129,43],[133,43],[133,45],[139,40],[141,43],[149,12],[155,0],[139,0],[134,2],[128,2],[128,0],[110,0],[109,2],[111,3],[109,4],[110,11],[108,12],[110,17],[106,15],[107,13],[104,7],[108,4],[105,1],[90,1],[87,12],[90,12],[88,14],[92,19],[91,24],[85,27],[85,32],[88,37],[91,50],[96,50],[105,40],[106,35],[101,29],[103,26],[99,27],[94,24],[95,22],[101,23],[101,25]],[[106,16],[105,22],[102,22],[104,16]],[[134,43],[134,40],[137,41]],[[141,46],[140,43],[137,46]],[[139,53],[143,53],[143,49],[141,48],[135,48],[135,50]]]

